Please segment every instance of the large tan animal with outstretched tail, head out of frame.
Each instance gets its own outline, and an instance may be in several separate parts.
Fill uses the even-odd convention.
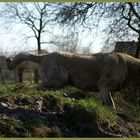
[[[20,53],[13,60],[7,59],[8,68],[12,70],[23,61],[39,63],[42,80],[39,90],[70,84],[87,91],[99,91],[103,104],[109,106],[114,106],[110,91],[129,84],[140,86],[140,60],[122,53]]]

